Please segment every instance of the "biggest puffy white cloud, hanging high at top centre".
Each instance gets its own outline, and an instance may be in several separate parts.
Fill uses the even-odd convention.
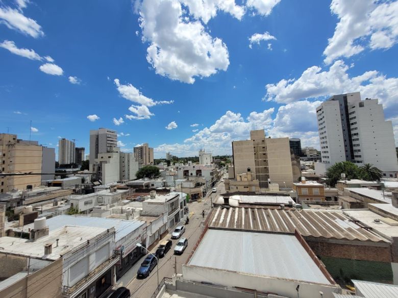
[[[187,3],[192,11],[207,19],[200,9],[193,8],[194,1]],[[180,2],[143,0],[138,10],[142,41],[149,44],[146,60],[157,74],[193,84],[195,77],[227,70],[227,46],[221,39],[211,37],[201,21],[190,21]]]

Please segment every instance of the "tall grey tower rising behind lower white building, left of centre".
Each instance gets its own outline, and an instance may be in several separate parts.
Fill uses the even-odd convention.
[[[117,132],[108,128],[90,130],[90,170],[99,153],[114,152],[117,147]]]

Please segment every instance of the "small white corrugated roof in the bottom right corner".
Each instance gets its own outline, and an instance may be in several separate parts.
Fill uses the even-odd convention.
[[[365,298],[397,298],[398,286],[353,280],[356,294]]]

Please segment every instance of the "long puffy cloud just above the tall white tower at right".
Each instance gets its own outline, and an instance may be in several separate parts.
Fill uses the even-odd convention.
[[[282,79],[276,84],[267,84],[264,100],[289,103],[359,91],[363,97],[378,98],[385,107],[398,105],[398,78],[387,78],[377,70],[350,77],[347,73],[349,68],[341,60],[334,62],[329,70],[309,67],[298,79]]]

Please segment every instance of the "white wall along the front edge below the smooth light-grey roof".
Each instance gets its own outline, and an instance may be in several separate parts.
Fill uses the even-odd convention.
[[[183,265],[183,279],[192,282],[209,282],[215,285],[229,288],[241,287],[255,289],[262,292],[277,293],[287,297],[296,297],[297,285],[300,285],[301,298],[313,298],[319,296],[319,291],[324,292],[324,298],[333,298],[333,293],[340,293],[339,286],[311,284],[293,280],[283,280],[270,277],[260,277],[248,274],[204,268],[192,265]]]

